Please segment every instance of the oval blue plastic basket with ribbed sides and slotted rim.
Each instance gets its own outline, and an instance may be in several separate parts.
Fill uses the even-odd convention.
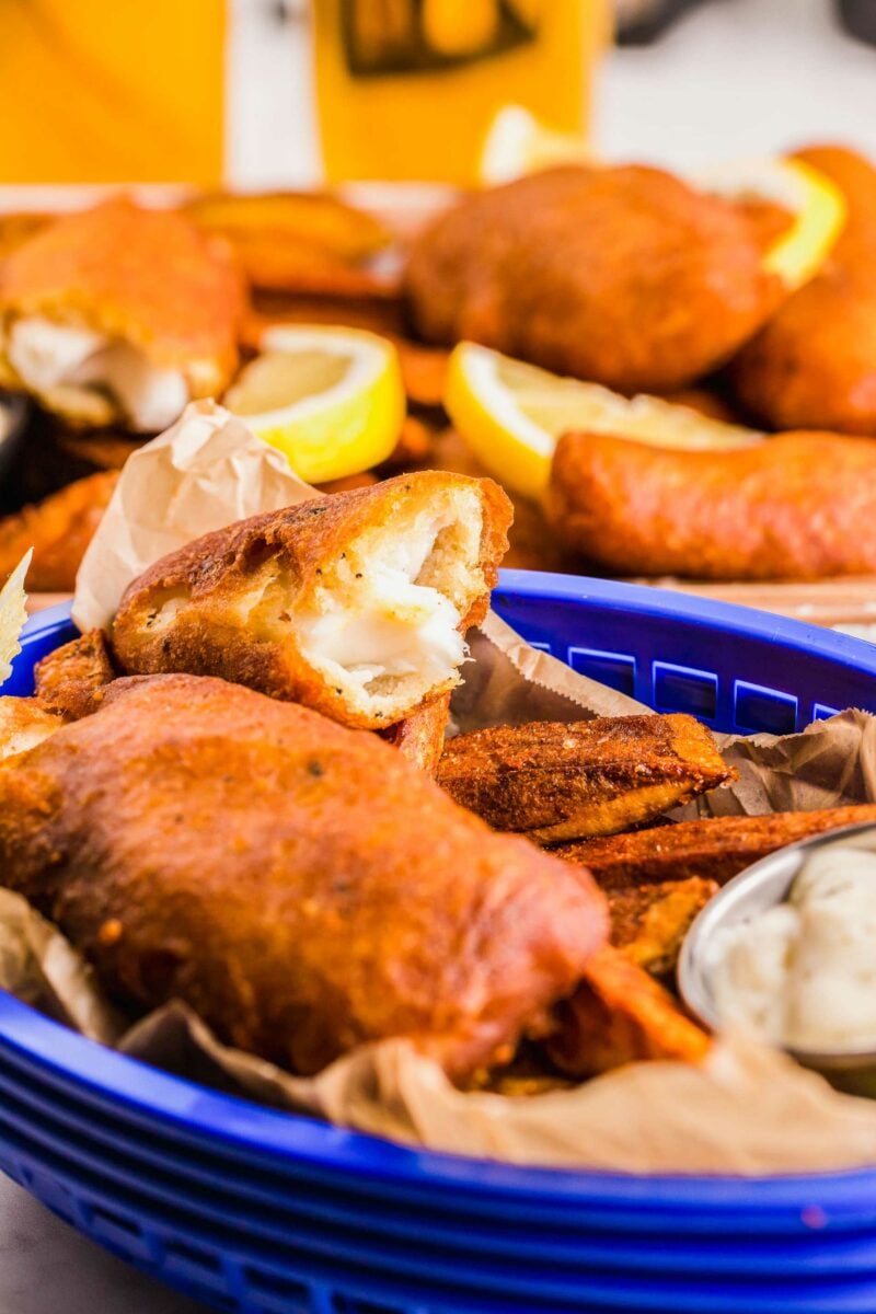
[[[577,669],[721,729],[876,711],[876,648],[823,629],[523,572],[494,602]],[[66,608],[32,620],[9,690],[72,633]],[[242,1314],[876,1311],[876,1169],[634,1177],[408,1150],[156,1072],[3,992],[0,1166]]]

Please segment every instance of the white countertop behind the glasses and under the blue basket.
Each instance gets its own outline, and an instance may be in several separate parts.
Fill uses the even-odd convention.
[[[232,176],[253,187],[313,181],[301,33],[284,34],[261,17],[261,4],[235,0],[255,21],[231,53],[239,75]],[[678,167],[830,138],[876,154],[876,50],[833,28],[830,11],[830,0],[713,0],[661,45],[616,53],[602,78],[600,147],[613,158]],[[100,1251],[0,1176],[0,1314],[198,1309]]]

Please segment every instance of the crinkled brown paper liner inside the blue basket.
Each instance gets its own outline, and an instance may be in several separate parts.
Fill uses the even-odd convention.
[[[76,619],[102,624],[127,582],[190,537],[314,490],[239,420],[196,403],[129,460],[80,574]],[[645,711],[529,648],[496,616],[469,636],[453,699],[460,729]],[[876,720],[844,712],[802,735],[725,736],[739,781],[708,812],[876,800]],[[690,812],[690,809],[683,809]],[[406,1041],[361,1046],[315,1079],[221,1045],[172,1003],[127,1026],[79,954],[0,891],[0,986],[101,1043],[222,1091],[393,1139],[511,1163],[629,1172],[808,1172],[876,1163],[876,1104],[834,1092],[749,1038],[720,1038],[699,1067],[637,1063],[569,1089],[462,1093]]]

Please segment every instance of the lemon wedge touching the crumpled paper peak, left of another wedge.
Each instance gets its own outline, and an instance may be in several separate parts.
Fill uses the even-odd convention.
[[[405,419],[405,389],[390,342],[360,328],[277,325],[238,374],[225,405],[296,474],[324,484],[380,465]]]

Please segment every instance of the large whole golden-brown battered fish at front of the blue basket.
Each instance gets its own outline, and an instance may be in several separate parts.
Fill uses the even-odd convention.
[[[190,675],[116,681],[0,769],[0,880],[118,1003],[302,1074],[397,1035],[461,1081],[507,1062],[607,929],[586,871],[377,736]]]

